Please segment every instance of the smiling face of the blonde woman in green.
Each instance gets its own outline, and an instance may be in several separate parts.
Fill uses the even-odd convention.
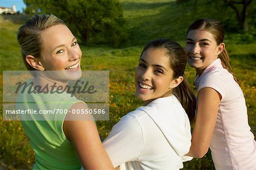
[[[64,24],[46,28],[41,34],[40,63],[46,71],[63,71],[63,77],[76,80],[81,77],[82,52],[75,36]]]

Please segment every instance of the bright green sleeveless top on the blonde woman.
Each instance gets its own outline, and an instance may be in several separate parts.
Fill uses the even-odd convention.
[[[81,163],[72,142],[65,138],[63,122],[65,111],[73,103],[82,102],[71,94],[19,93],[16,109],[54,110],[55,114],[26,114],[21,121],[35,151],[33,169],[80,169]],[[86,105],[86,104],[85,104]],[[59,113],[56,114],[56,110]],[[61,113],[62,114],[61,114]],[[20,116],[19,116],[20,117]],[[38,121],[38,119],[47,121]],[[28,119],[32,121],[27,121]],[[33,121],[34,120],[34,121]],[[52,121],[49,121],[52,120]]]

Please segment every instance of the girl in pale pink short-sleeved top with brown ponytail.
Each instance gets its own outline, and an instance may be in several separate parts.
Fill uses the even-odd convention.
[[[256,142],[248,124],[242,90],[225,50],[224,27],[212,19],[189,26],[185,51],[196,69],[197,117],[188,156],[210,147],[216,169],[256,169]]]

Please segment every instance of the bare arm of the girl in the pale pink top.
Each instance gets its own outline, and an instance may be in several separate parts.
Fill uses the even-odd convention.
[[[196,124],[188,156],[197,158],[207,154],[215,127],[221,95],[212,88],[202,88],[197,96]]]

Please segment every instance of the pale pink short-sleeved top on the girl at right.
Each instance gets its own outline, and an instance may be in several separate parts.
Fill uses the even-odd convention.
[[[247,108],[240,86],[217,59],[201,76],[198,91],[209,87],[221,94],[210,150],[216,169],[256,169],[256,142],[248,124]]]

